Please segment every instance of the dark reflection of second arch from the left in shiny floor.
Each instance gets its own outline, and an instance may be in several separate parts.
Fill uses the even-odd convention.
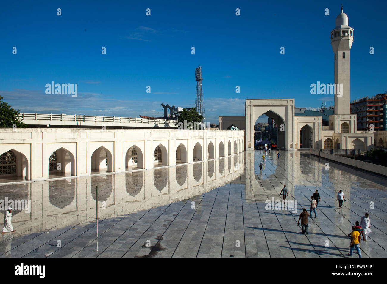
[[[70,205],[74,198],[75,179],[70,179],[70,182],[67,180],[53,180],[48,182],[48,200],[53,206],[63,209]]]

